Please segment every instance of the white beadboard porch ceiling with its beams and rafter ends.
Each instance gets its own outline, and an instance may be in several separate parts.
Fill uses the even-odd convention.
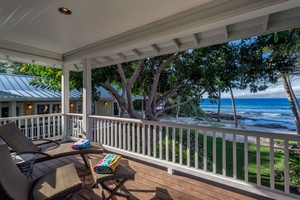
[[[0,0],[0,59],[81,71],[300,26],[299,0]],[[71,15],[58,8],[66,7]]]

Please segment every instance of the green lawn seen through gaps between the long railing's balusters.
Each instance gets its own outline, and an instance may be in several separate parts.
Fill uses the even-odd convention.
[[[163,134],[164,135],[164,134]],[[163,136],[164,137],[164,136]],[[169,158],[172,159],[172,134],[171,129],[169,130]],[[176,131],[176,162],[179,162],[179,134]],[[187,134],[182,134],[183,141],[183,164],[187,163]],[[194,156],[194,131],[190,134],[190,162],[191,166],[195,166],[195,156]],[[198,136],[199,143],[199,162],[198,168],[203,169],[203,135]],[[163,148],[165,148],[165,141],[163,142]],[[237,153],[237,179],[244,180],[244,143],[236,143],[236,153]],[[256,145],[248,144],[248,177],[249,182],[257,182],[257,164],[256,164]],[[217,173],[222,174],[222,138],[216,139],[216,168]],[[270,149],[269,147],[260,147],[260,165],[261,165],[261,184],[270,187]],[[208,166],[207,169],[212,171],[212,155],[213,155],[213,138],[207,136],[207,153],[208,153]],[[299,156],[299,155],[298,155]],[[274,151],[274,162],[282,163],[283,152],[279,150]],[[233,177],[233,143],[231,141],[226,141],[226,176]],[[284,183],[280,179],[275,179],[275,188],[283,190]]]

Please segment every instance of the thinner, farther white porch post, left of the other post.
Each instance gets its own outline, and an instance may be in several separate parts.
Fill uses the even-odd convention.
[[[67,140],[68,136],[68,118],[66,113],[69,113],[69,68],[65,65],[62,66],[62,76],[61,76],[61,112],[62,116],[62,134],[63,139]]]

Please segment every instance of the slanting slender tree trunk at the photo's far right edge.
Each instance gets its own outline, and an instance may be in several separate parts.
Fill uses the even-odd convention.
[[[287,79],[285,74],[281,74],[281,79],[282,79],[283,87],[285,89],[286,96],[288,98],[290,107],[291,107],[293,115],[294,115],[294,121],[295,121],[295,125],[296,125],[296,132],[297,132],[298,135],[300,135],[299,113],[296,109],[296,104],[295,104],[295,101],[294,101],[294,99],[292,97],[292,94],[291,94],[291,88],[289,87],[288,79]]]

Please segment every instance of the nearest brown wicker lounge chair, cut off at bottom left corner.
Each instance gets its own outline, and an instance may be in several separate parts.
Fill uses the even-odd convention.
[[[0,145],[0,199],[60,199],[69,197],[83,187],[74,164],[30,180],[14,164],[8,146]]]

